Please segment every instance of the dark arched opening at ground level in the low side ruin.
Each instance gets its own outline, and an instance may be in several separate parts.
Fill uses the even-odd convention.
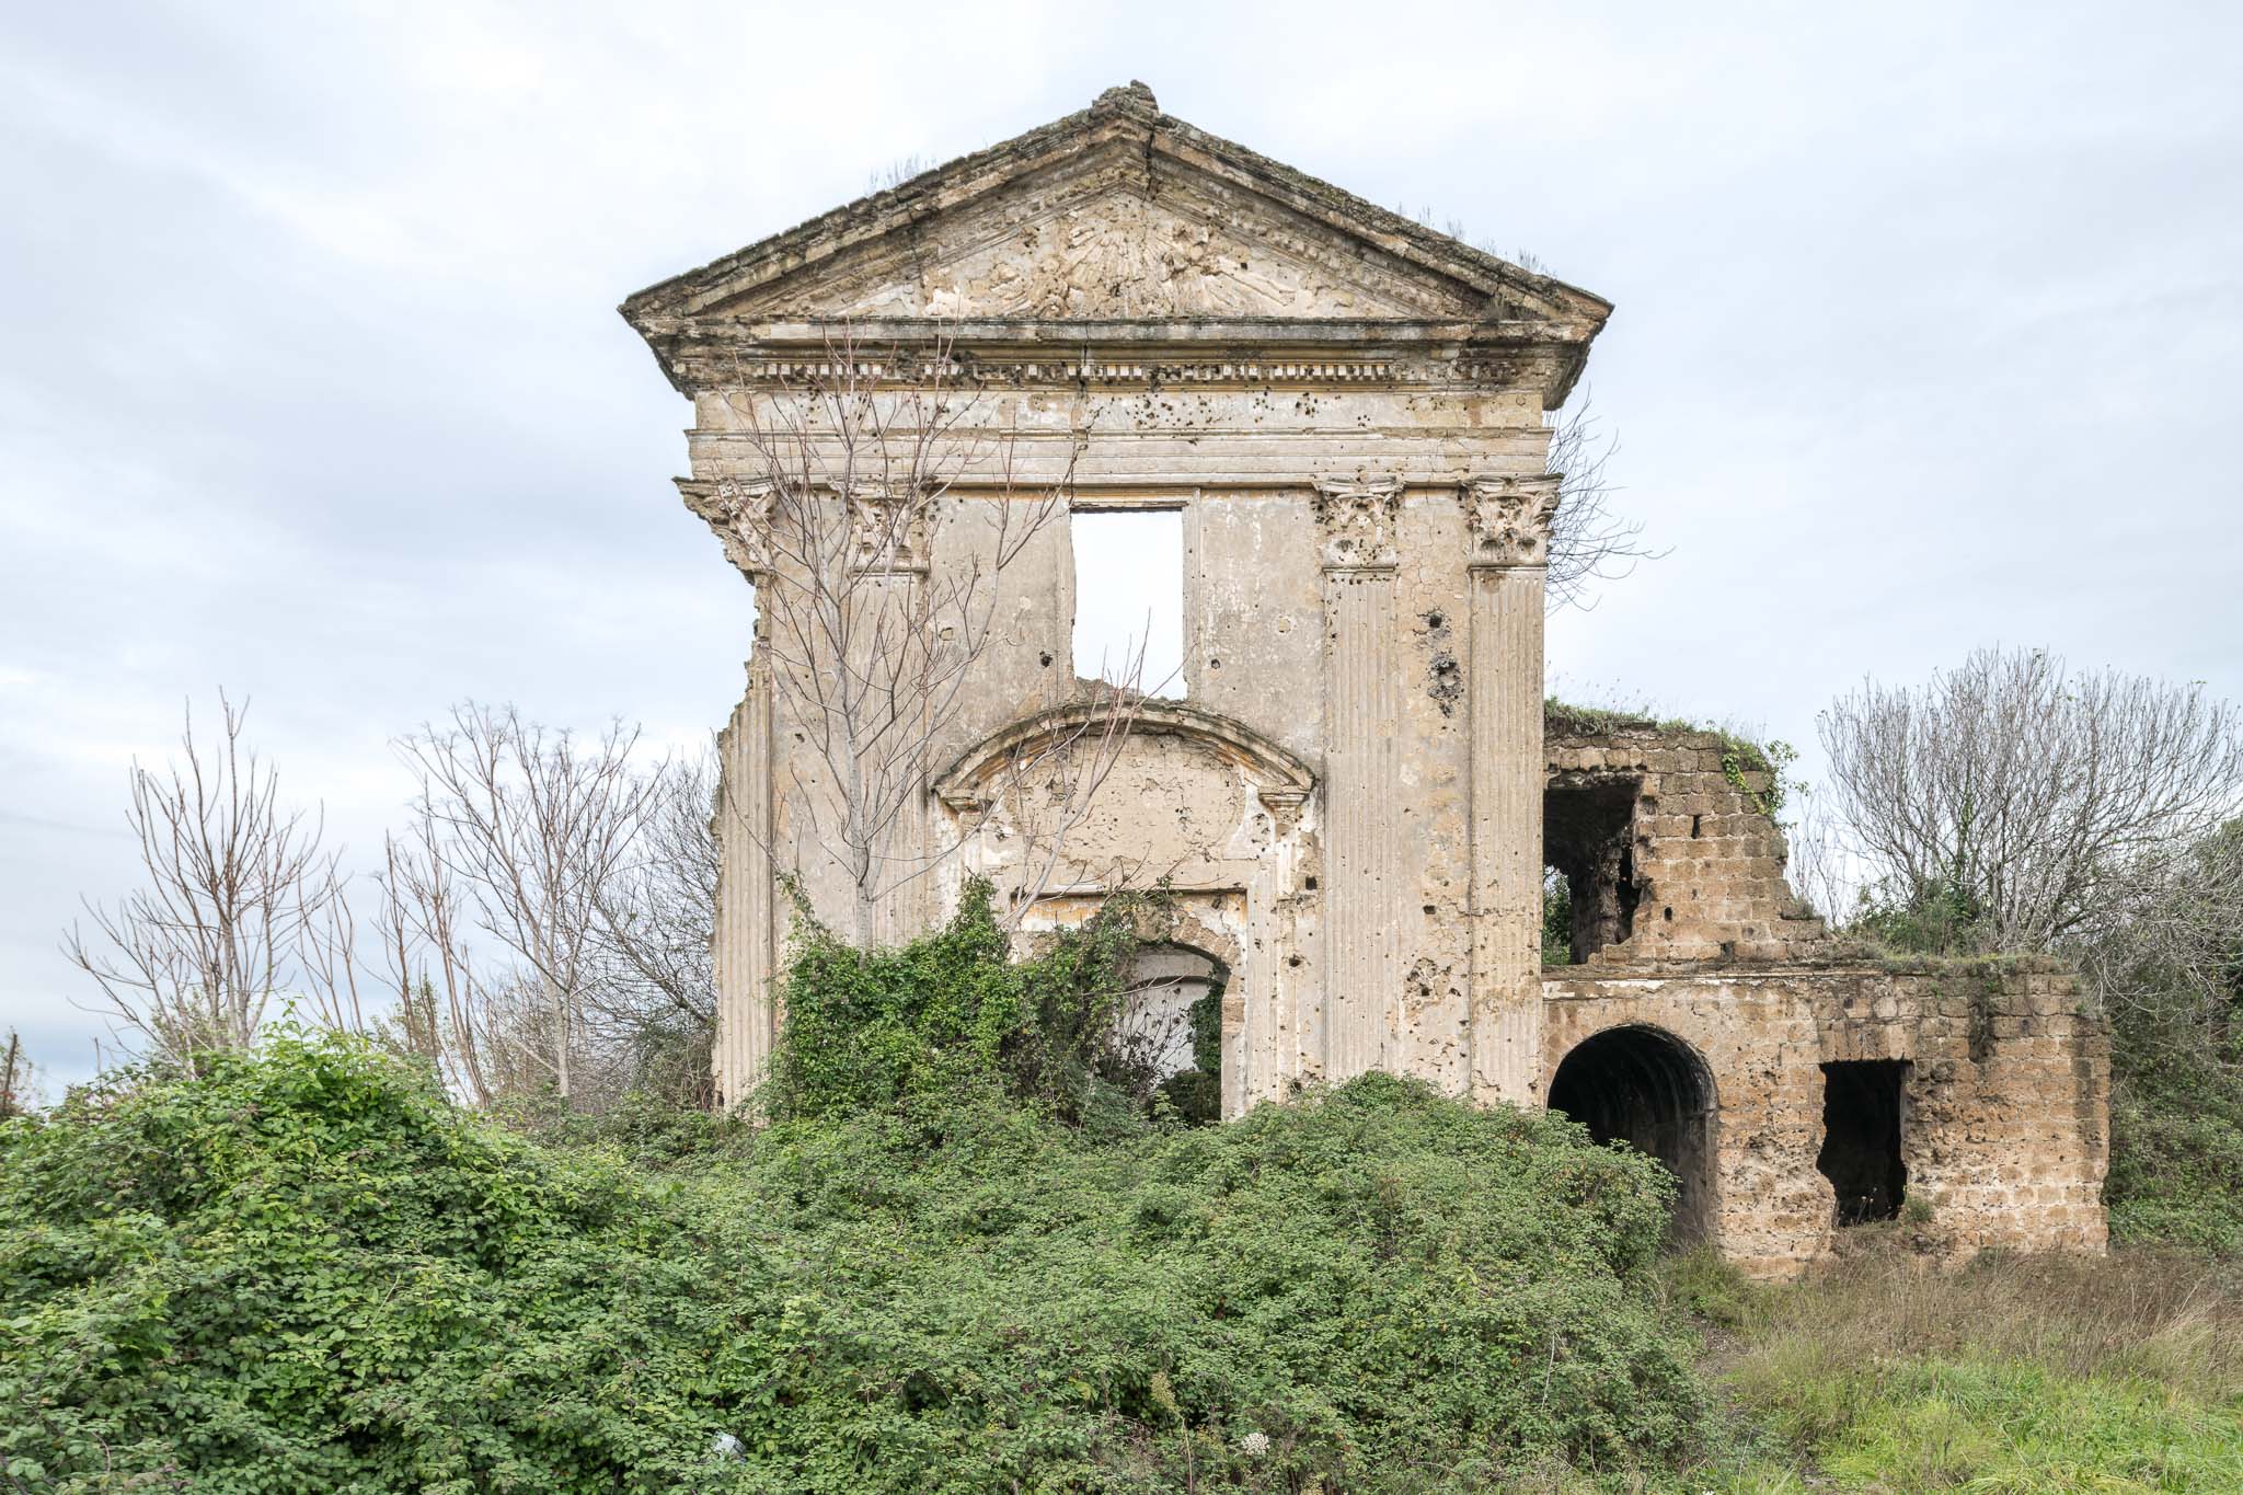
[[[1714,1235],[1714,1074],[1687,1042],[1644,1024],[1584,1038],[1550,1080],[1550,1109],[1599,1143],[1624,1141],[1676,1177],[1669,1242]]]

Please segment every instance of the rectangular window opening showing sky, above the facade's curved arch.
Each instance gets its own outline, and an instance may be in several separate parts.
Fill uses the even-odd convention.
[[[1184,511],[1077,509],[1074,672],[1184,695]]]

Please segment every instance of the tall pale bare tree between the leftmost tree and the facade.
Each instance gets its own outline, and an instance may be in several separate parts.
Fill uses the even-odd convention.
[[[399,742],[422,816],[399,892],[458,993],[453,1033],[480,1053],[478,1092],[491,1092],[502,1058],[532,1065],[563,1101],[574,1094],[572,1058],[601,973],[601,897],[628,867],[650,798],[630,771],[635,742],[619,724],[576,740],[511,706],[473,704]],[[462,921],[511,968],[478,975]]]

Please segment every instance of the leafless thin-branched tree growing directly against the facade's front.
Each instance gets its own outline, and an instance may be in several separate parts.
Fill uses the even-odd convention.
[[[879,906],[958,852],[911,834],[933,749],[996,641],[1007,574],[1068,513],[1088,433],[1074,433],[1063,473],[1016,482],[1012,430],[987,428],[989,406],[947,341],[868,354],[843,332],[778,388],[736,383],[727,399],[754,473],[720,484],[702,518],[758,578],[758,652],[794,740],[778,789],[796,854],[832,858],[866,946]],[[967,482],[976,522],[944,527],[953,484]],[[938,529],[953,547],[940,567]],[[1101,704],[1126,713],[1137,699],[1119,690]],[[1122,735],[1104,719],[1079,731],[1108,753]]]

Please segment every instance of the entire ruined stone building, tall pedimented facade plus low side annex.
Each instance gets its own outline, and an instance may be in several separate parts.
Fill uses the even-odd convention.
[[[1000,594],[962,681],[922,704],[924,782],[881,834],[926,874],[881,894],[879,937],[969,874],[1050,928],[1153,870],[1175,919],[1151,968],[1220,984],[1225,1116],[1366,1069],[1554,1105],[1664,1159],[1678,1233],[1763,1275],[1902,1210],[1956,1253],[2102,1248],[2108,1051],[2061,966],[1848,964],[1783,883],[1763,764],[1545,715],[1545,412],[1608,303],[1130,85],[624,314],[693,401],[680,486],[758,589],[785,585],[774,489],[823,484],[881,596]],[[884,442],[953,421],[964,455],[902,533],[879,527],[893,468],[774,462],[787,410],[837,379],[879,390]],[[1054,493],[998,572],[994,516]],[[1180,688],[1126,719],[1072,657],[1068,529],[1097,511],[1182,520]],[[758,612],[724,733],[727,1098],[781,1022],[778,874],[821,912],[861,885],[812,847],[816,724]],[[1101,711],[1126,728],[1106,746]],[[1110,773],[1039,870],[1007,773],[1054,742]],[[1570,966],[1543,966],[1545,872],[1570,888]]]

